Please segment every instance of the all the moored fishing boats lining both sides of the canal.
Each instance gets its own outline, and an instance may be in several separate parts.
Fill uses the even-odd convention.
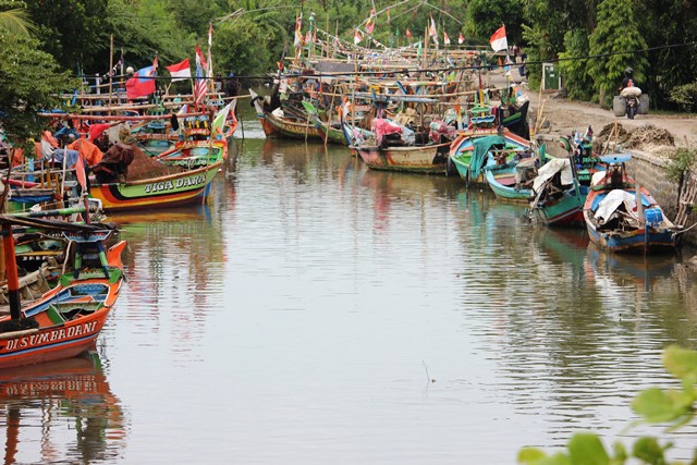
[[[676,227],[627,175],[631,157],[598,156],[590,131],[562,138],[567,156],[551,157],[530,142],[521,89],[508,78],[482,85],[481,51],[463,51],[457,71],[364,53],[360,64],[296,56],[270,95],[250,90],[265,134],[342,144],[374,170],[488,185],[537,222],[585,225],[608,250],[675,246]],[[44,113],[34,157],[4,147],[0,369],[94,344],[123,281],[125,244],[110,245],[102,212],[205,201],[237,126],[236,99],[215,93],[155,96],[140,108],[89,97],[81,114]]]

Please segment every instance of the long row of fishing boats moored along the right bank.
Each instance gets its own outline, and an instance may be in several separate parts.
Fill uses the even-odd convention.
[[[485,89],[476,66],[395,73],[371,62],[360,81],[321,71],[332,68],[318,61],[266,97],[250,91],[267,137],[343,144],[374,170],[458,174],[526,206],[535,222],[586,228],[611,252],[675,246],[678,227],[626,172],[631,155],[594,151],[590,127],[561,138],[565,156],[550,155],[530,140],[529,100],[509,79]]]

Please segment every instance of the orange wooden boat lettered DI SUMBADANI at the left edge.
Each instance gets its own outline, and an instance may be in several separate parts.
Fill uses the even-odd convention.
[[[37,220],[36,216],[0,216],[10,299],[10,315],[0,318],[0,369],[70,358],[94,346],[123,281],[125,242],[105,250],[110,230]],[[25,306],[20,302],[13,224],[66,231],[66,237],[76,244],[74,271],[61,276],[54,289]],[[84,257],[95,254],[90,248],[99,257],[96,266],[83,264]]]

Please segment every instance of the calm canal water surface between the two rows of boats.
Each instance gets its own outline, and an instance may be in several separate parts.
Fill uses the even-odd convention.
[[[207,205],[110,218],[117,309],[93,358],[0,380],[5,463],[514,464],[575,431],[665,437],[626,427],[677,386],[662,348],[697,346],[680,255],[244,124]]]

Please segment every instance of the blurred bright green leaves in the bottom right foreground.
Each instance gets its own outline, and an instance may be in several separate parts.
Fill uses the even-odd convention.
[[[682,389],[650,388],[641,391],[632,402],[632,408],[640,417],[633,426],[667,423],[668,431],[674,431],[695,418],[697,352],[671,345],[663,352],[663,365],[671,375],[681,380]],[[664,465],[669,463],[665,452],[671,448],[672,443],[661,445],[657,438],[641,437],[634,442],[631,450],[623,443],[615,442],[610,453],[598,435],[577,432],[568,440],[566,451],[549,455],[540,449],[524,448],[518,452],[518,463],[524,465],[622,465],[626,463]],[[671,463],[678,464],[678,462]],[[697,464],[697,449],[692,462],[682,464]]]

